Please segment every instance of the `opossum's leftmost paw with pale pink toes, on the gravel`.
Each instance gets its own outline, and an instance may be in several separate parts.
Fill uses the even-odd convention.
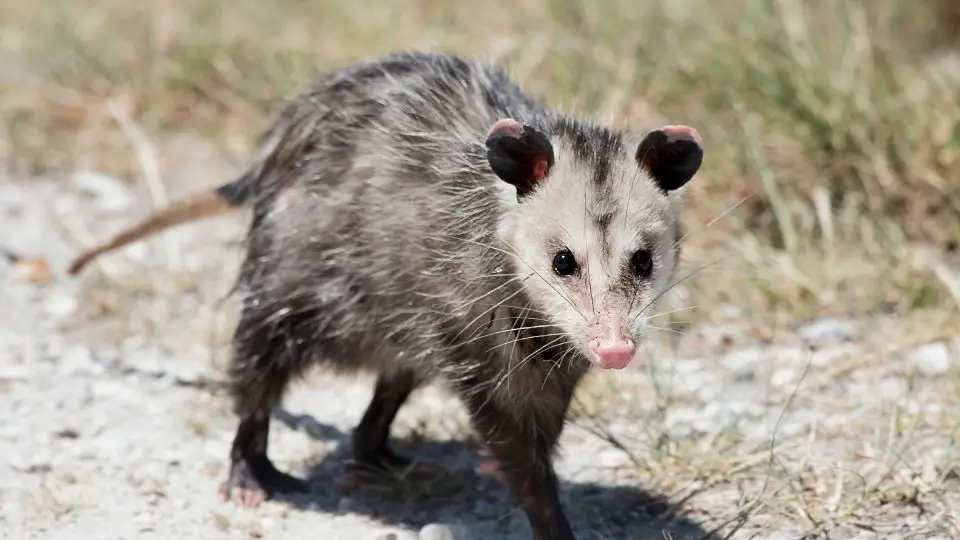
[[[266,457],[238,460],[230,466],[230,476],[220,484],[220,500],[244,508],[256,508],[276,493],[303,493],[307,483],[279,471]]]

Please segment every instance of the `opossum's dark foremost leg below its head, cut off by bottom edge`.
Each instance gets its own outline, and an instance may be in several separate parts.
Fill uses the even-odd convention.
[[[549,384],[543,392],[509,401],[487,385],[464,387],[477,432],[530,523],[534,540],[575,540],[560,505],[553,451],[563,430],[572,388]]]

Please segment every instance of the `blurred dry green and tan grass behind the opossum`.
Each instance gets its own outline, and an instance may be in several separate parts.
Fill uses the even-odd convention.
[[[409,48],[492,58],[602,121],[700,130],[687,260],[737,261],[690,285],[698,304],[770,322],[960,301],[954,0],[4,1],[0,155],[134,178],[120,107],[161,169],[185,136],[241,162],[319,71]]]

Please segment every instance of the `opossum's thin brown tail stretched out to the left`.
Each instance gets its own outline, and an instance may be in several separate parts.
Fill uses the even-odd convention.
[[[175,201],[120,231],[106,242],[88,248],[70,263],[67,272],[70,275],[77,275],[84,266],[100,255],[153,236],[170,227],[237,210],[250,199],[251,183],[252,175],[246,173],[214,189],[201,191]]]

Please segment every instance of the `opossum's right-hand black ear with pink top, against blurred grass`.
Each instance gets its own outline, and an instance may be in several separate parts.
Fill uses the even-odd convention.
[[[703,162],[700,135],[688,126],[663,126],[640,141],[637,164],[664,191],[679,189],[693,178]]]

